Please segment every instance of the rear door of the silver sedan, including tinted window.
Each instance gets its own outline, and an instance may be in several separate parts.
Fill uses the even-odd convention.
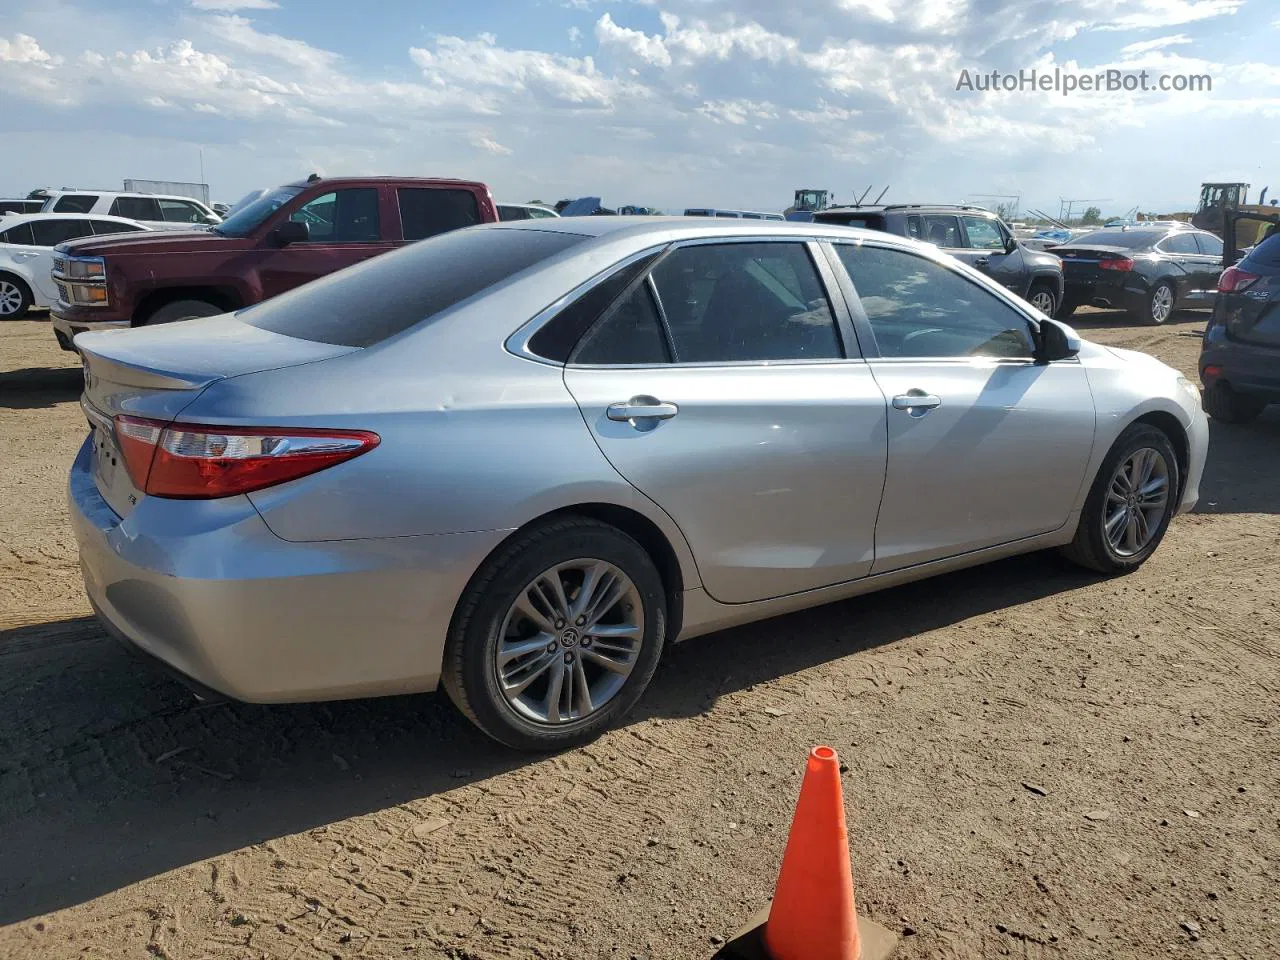
[[[564,369],[600,451],[676,521],[722,603],[852,580],[874,559],[886,402],[823,275],[799,241],[678,246]]]

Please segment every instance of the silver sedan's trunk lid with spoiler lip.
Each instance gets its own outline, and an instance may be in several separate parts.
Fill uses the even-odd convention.
[[[81,407],[92,430],[93,480],[120,517],[145,494],[129,479],[114,417],[170,422],[218,380],[360,349],[270,333],[233,316],[82,333],[76,347],[84,367]]]

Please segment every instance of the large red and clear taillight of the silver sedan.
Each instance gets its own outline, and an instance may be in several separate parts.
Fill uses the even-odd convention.
[[[205,426],[119,416],[115,435],[129,479],[151,497],[214,499],[261,490],[358,457],[367,430]]]

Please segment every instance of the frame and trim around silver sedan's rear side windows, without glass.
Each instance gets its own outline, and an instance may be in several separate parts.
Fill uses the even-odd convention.
[[[591,279],[580,284],[579,287],[570,291],[567,294],[557,300],[550,306],[541,310],[532,320],[521,326],[516,333],[507,338],[507,349],[524,360],[532,360],[539,364],[547,364],[549,366],[558,367],[573,367],[576,370],[640,370],[640,369],[668,369],[680,367],[681,370],[696,370],[696,369],[709,369],[709,367],[759,367],[759,366],[813,366],[815,364],[847,364],[850,361],[858,362],[864,358],[860,349],[860,340],[854,332],[852,320],[849,315],[849,305],[845,301],[844,291],[837,284],[838,274],[831,269],[829,260],[826,251],[822,250],[824,238],[812,237],[812,236],[718,236],[718,237],[692,237],[689,239],[680,239],[669,243],[659,243],[645,250],[632,253],[616,264],[612,264],[607,270],[600,271]],[[618,270],[636,262],[637,260],[652,256],[655,252],[662,253],[653,265],[639,278],[627,284],[627,288],[618,296],[618,298],[609,306],[609,310],[602,315],[600,320],[596,320],[590,328],[588,328],[588,334],[595,329],[605,315],[613,312],[613,306],[622,302],[622,300],[632,292],[635,285],[641,280],[652,284],[649,279],[653,271],[666,260],[673,251],[681,250],[684,247],[699,247],[708,244],[724,244],[724,243],[799,243],[805,247],[805,252],[809,255],[809,260],[813,264],[814,271],[818,274],[818,283],[823,288],[823,293],[827,297],[827,302],[831,306],[832,321],[836,326],[836,343],[840,346],[842,357],[822,357],[822,358],[794,358],[794,360],[721,360],[721,361],[705,361],[705,362],[686,362],[681,364],[678,361],[678,353],[676,351],[675,342],[671,337],[671,330],[667,326],[667,311],[662,305],[662,297],[658,296],[655,287],[650,285],[650,294],[654,298],[654,303],[658,307],[658,316],[663,325],[663,334],[667,337],[667,351],[671,353],[672,360],[664,364],[573,364],[559,362],[556,360],[548,360],[547,357],[539,356],[529,349],[529,342],[532,339],[534,334],[541,329],[541,326],[549,323],[561,310],[567,307],[570,303],[576,301],[579,297],[590,291],[594,285],[603,283],[605,279],[612,276]],[[584,334],[585,339],[586,334]],[[576,348],[575,348],[576,349]],[[572,353],[570,355],[572,357]]]

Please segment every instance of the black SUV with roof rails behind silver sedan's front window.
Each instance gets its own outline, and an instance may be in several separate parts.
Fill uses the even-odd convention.
[[[998,216],[980,206],[835,206],[814,214],[813,219],[932,243],[982,270],[1047,316],[1055,316],[1062,306],[1062,261],[1019,243]]]

